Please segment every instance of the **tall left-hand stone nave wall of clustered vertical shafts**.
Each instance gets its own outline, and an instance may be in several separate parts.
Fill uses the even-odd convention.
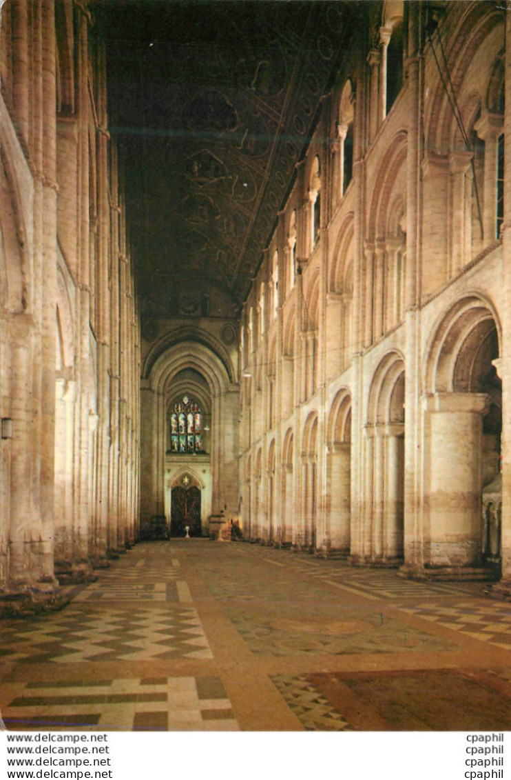
[[[137,536],[139,318],[104,48],[86,4],[2,6],[3,600],[59,583]],[[122,356],[122,360],[120,360]],[[6,425],[6,424],[4,424]]]

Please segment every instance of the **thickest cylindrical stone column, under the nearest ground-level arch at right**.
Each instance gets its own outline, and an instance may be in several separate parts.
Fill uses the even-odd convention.
[[[480,566],[481,435],[488,395],[442,392],[425,402],[431,426],[425,562],[448,569]]]

